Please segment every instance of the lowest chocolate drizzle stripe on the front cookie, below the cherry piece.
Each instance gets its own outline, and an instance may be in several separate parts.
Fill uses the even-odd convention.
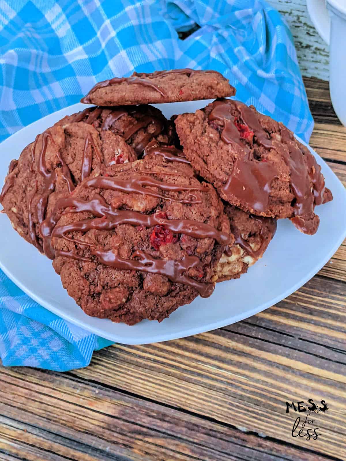
[[[197,282],[191,277],[184,275],[189,269],[196,267],[200,260],[197,256],[186,256],[179,261],[174,260],[157,260],[149,256],[143,251],[136,251],[133,256],[139,260],[125,260],[112,250],[91,250],[91,254],[106,266],[114,267],[120,270],[137,270],[142,272],[150,272],[152,274],[160,274],[166,276],[174,283],[191,286],[203,297],[207,298],[214,291],[214,284],[206,284]]]

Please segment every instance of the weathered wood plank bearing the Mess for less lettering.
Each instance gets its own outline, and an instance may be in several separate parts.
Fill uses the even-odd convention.
[[[293,415],[285,414],[284,402],[323,398],[330,411],[316,417],[324,438],[318,449],[345,458],[344,293],[343,283],[314,278],[287,300],[248,319],[252,326],[244,331],[252,330],[251,338],[233,331],[240,327],[232,325],[229,331],[168,343],[119,344],[95,354],[91,367],[73,375],[244,431],[260,428],[262,435],[287,443],[293,440],[289,430]],[[272,343],[263,341],[266,328],[281,336]],[[292,338],[283,340],[282,335]],[[302,446],[302,441],[293,443]]]

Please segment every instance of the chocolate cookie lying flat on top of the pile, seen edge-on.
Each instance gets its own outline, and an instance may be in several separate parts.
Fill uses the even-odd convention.
[[[131,77],[115,77],[96,83],[81,102],[117,106],[194,101],[233,95],[235,89],[219,72],[175,69],[151,74],[134,72]]]

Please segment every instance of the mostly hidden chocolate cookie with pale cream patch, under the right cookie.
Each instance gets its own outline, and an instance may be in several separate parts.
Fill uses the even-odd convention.
[[[235,241],[221,256],[216,272],[218,282],[239,278],[262,258],[276,231],[276,219],[246,213],[233,205],[225,206]]]

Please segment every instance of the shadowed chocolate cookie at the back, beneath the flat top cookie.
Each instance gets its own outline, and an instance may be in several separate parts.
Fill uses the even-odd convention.
[[[98,131],[111,130],[122,136],[138,157],[152,140],[168,145],[177,142],[173,122],[153,106],[90,107],[75,117]]]

